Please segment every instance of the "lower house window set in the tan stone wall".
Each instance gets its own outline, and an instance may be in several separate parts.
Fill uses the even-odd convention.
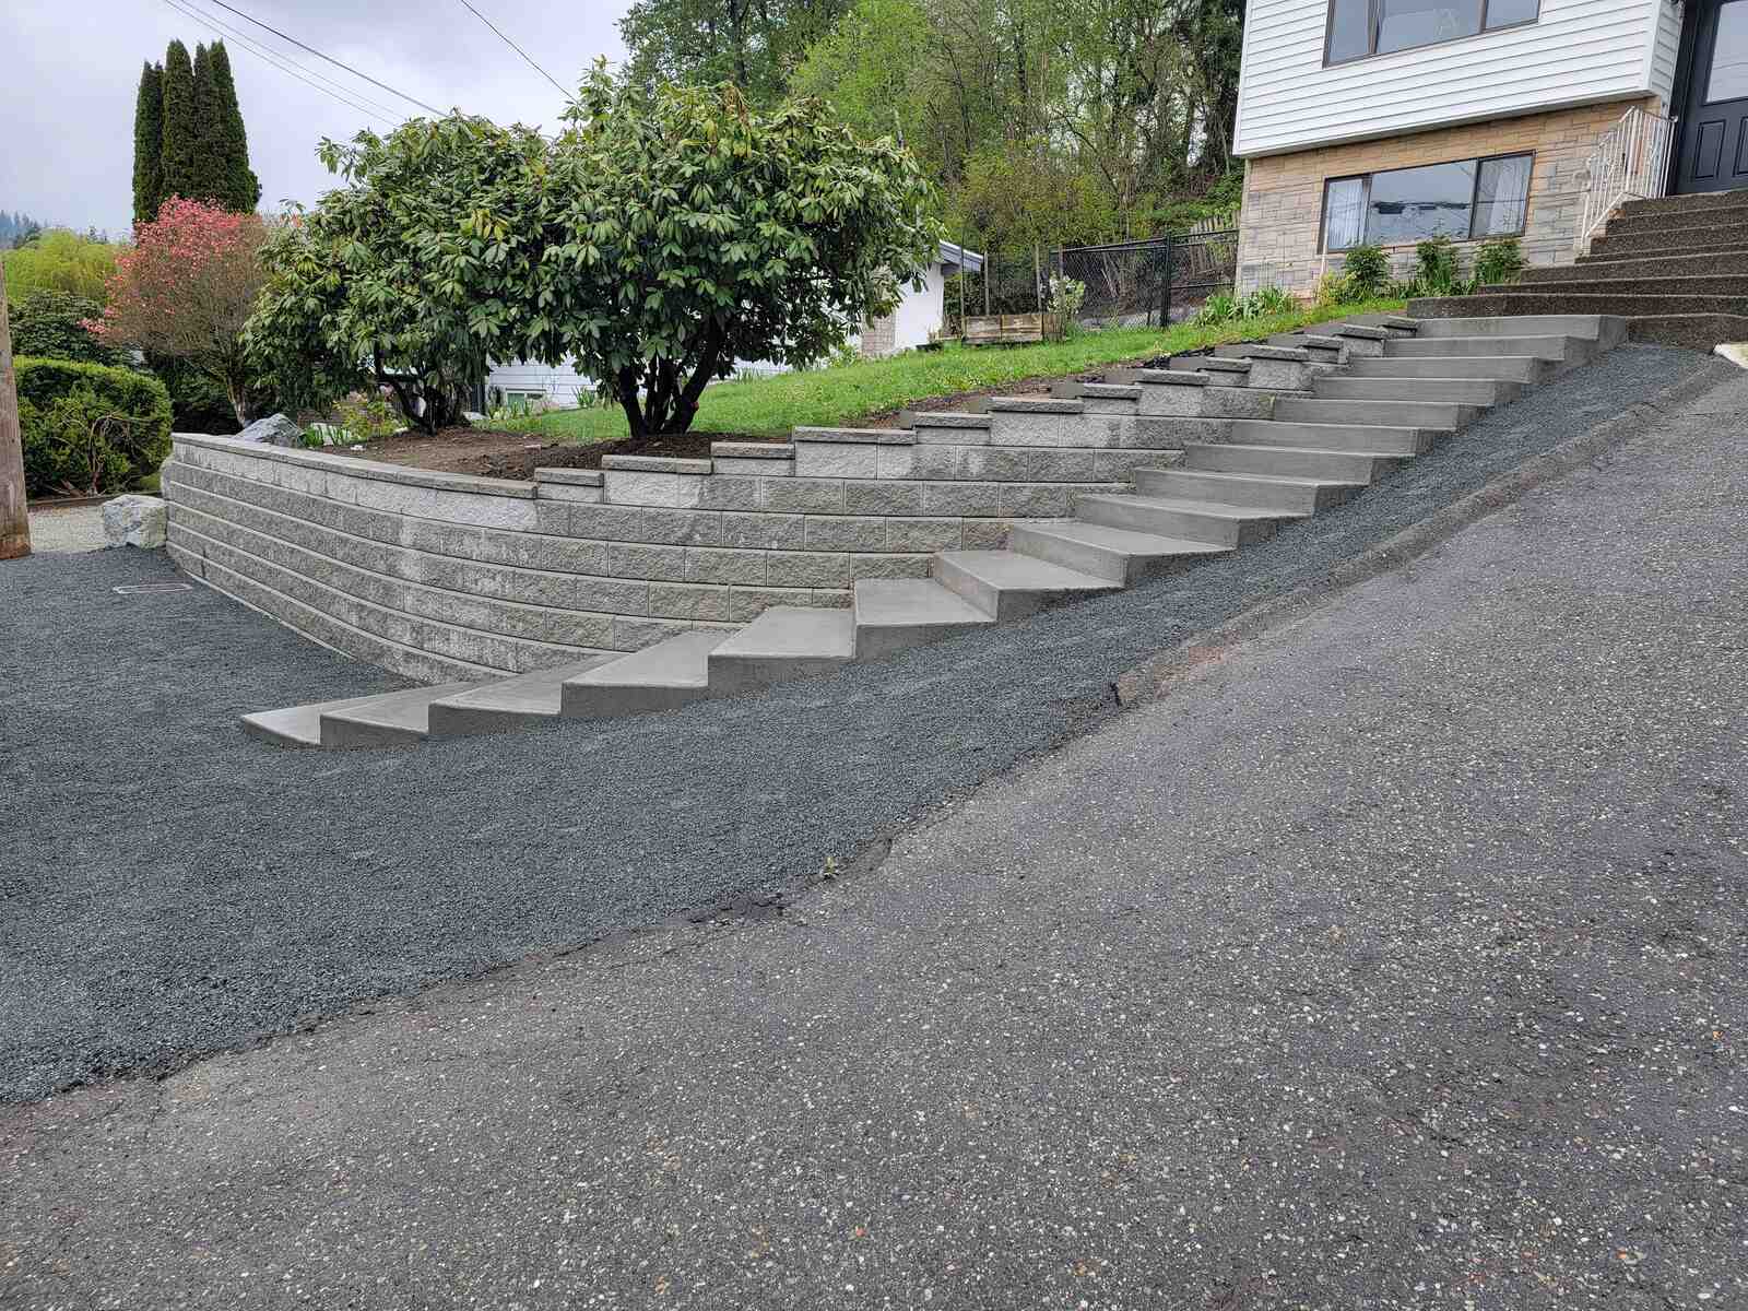
[[[1516,236],[1530,212],[1533,163],[1533,156],[1495,156],[1330,178],[1323,184],[1323,250]]]

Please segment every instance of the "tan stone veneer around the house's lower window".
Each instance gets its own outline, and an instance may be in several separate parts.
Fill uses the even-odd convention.
[[[1341,253],[1318,250],[1327,178],[1524,150],[1535,152],[1524,255],[1531,264],[1568,264],[1578,238],[1591,149],[1631,105],[1664,112],[1662,101],[1650,96],[1252,159],[1239,215],[1238,287],[1241,292],[1281,287],[1304,295],[1325,271],[1341,271]],[[1472,252],[1477,245],[1460,241],[1458,250]],[[1409,276],[1414,246],[1386,250],[1397,276]]]

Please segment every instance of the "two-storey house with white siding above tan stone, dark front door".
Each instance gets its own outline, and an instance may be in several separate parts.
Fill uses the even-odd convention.
[[[1615,199],[1748,187],[1745,124],[1748,0],[1252,0],[1238,283],[1437,234],[1564,262]]]

